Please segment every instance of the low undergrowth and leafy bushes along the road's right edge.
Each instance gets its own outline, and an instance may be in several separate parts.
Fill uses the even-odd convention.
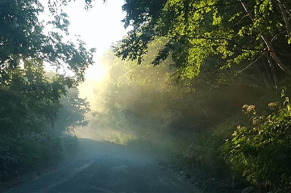
[[[282,97],[283,106],[270,103],[270,110],[260,114],[254,105],[245,105],[246,115],[235,115],[213,128],[165,134],[171,143],[158,143],[150,135],[139,138],[118,132],[110,139],[139,151],[166,153],[172,163],[209,177],[235,178],[237,185],[248,182],[260,192],[290,192],[291,104],[284,92]]]

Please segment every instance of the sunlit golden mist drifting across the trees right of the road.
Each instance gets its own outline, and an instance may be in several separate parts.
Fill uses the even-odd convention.
[[[240,114],[249,100],[261,99],[259,90],[240,83],[218,84],[209,90],[203,75],[177,81],[168,67],[171,58],[159,66],[150,64],[159,46],[152,44],[140,65],[118,58],[109,49],[99,67],[88,70],[90,78],[78,89],[90,104],[86,114],[90,123],[76,130],[78,138],[110,141],[139,153],[179,160],[180,151],[199,143],[202,132],[211,132],[227,117]]]

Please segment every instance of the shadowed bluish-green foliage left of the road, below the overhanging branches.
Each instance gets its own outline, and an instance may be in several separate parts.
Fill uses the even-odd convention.
[[[76,138],[63,133],[85,126],[89,110],[78,90],[67,93],[63,78],[49,78],[42,66],[6,69],[1,83],[0,178],[7,180],[73,155]]]

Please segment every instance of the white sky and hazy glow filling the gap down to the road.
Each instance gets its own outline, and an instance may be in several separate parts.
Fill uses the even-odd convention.
[[[86,70],[85,82],[78,86],[80,98],[86,98],[90,104],[91,111],[101,105],[102,94],[106,81],[108,81],[108,66],[100,62],[101,57],[109,50],[109,48],[118,40],[126,35],[130,28],[125,29],[121,20],[125,13],[122,12],[123,0],[95,0],[92,2],[92,8],[86,10],[85,1],[77,0],[63,6],[62,9],[69,16],[70,26],[68,28],[70,35],[68,39],[74,40],[76,35],[86,43],[86,48],[96,48],[94,54],[95,64]],[[42,4],[47,5],[46,0],[42,0]],[[48,8],[39,16],[40,19],[46,21],[48,19]],[[49,27],[47,27],[49,28]],[[46,70],[52,71],[47,65]],[[94,89],[98,93],[94,93]],[[98,96],[96,96],[98,95]],[[101,108],[101,107],[99,107]],[[89,112],[86,118],[91,123],[86,128],[80,128],[75,132],[79,138],[105,139],[106,134],[97,128],[92,122],[92,113]]]

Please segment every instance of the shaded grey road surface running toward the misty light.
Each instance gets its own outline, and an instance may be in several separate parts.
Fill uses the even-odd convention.
[[[7,193],[199,193],[149,156],[106,141],[79,139],[79,158]]]

